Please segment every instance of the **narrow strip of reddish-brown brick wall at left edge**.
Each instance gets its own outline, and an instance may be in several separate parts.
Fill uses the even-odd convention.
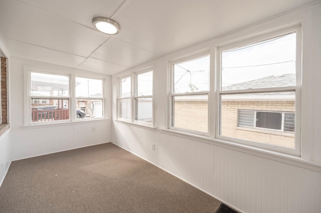
[[[5,57],[1,57],[1,108],[2,108],[2,123],[8,123],[7,58],[5,58]]]

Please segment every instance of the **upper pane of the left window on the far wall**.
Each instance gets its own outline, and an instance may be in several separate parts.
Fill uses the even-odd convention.
[[[69,96],[69,77],[31,72],[32,96]]]

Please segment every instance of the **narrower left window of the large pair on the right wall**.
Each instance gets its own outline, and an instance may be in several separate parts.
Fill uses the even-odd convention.
[[[210,55],[171,61],[170,128],[208,135]]]

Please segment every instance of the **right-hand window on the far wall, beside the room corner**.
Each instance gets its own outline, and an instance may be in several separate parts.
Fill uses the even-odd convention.
[[[76,77],[76,115],[81,118],[103,117],[103,80]]]

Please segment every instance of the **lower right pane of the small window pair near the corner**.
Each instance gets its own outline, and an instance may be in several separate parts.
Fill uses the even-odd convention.
[[[135,120],[152,122],[152,98],[137,98],[137,117]]]

